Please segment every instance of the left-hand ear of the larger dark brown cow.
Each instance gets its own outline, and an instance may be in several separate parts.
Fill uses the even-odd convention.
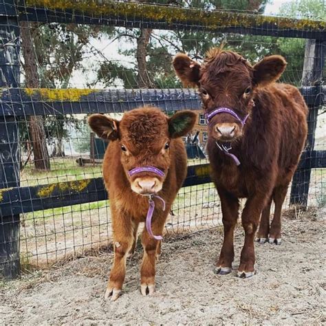
[[[177,76],[184,87],[196,87],[199,82],[200,65],[186,54],[178,53],[172,61]]]

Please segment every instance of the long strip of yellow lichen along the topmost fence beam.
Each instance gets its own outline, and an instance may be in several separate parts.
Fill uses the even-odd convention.
[[[44,7],[51,10],[72,10],[93,16],[113,16],[124,19],[143,19],[163,23],[191,23],[209,30],[224,27],[261,28],[265,23],[279,29],[326,30],[325,21],[291,19],[226,11],[207,11],[175,6],[157,6],[144,3],[125,3],[99,0],[26,0],[27,6]]]

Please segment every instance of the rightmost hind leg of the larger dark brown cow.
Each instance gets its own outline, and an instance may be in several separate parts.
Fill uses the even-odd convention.
[[[275,212],[270,224],[270,243],[281,244],[281,214],[282,205],[287,193],[287,186],[279,186],[274,191]]]

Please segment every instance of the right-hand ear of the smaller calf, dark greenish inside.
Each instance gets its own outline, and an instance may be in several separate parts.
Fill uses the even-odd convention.
[[[169,133],[171,138],[186,135],[193,129],[197,114],[193,111],[179,111],[169,118]]]

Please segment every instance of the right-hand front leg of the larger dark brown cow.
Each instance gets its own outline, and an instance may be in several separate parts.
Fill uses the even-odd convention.
[[[265,206],[268,197],[263,195],[253,195],[249,197],[243,209],[241,220],[245,231],[245,241],[241,250],[239,277],[250,277],[254,271],[254,234],[259,224],[261,211]]]

